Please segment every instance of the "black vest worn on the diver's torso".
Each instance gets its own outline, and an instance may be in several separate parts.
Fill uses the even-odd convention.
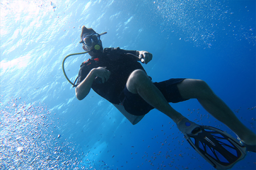
[[[119,94],[125,88],[125,84],[131,72],[137,69],[145,71],[137,61],[137,58],[127,53],[135,54],[136,51],[122,50],[119,48],[105,48],[102,56],[88,59],[80,66],[78,84],[85,79],[90,70],[97,67],[106,67],[111,72],[107,82],[92,84],[92,89],[100,96],[113,104],[119,104]],[[146,72],[146,71],[145,71]]]

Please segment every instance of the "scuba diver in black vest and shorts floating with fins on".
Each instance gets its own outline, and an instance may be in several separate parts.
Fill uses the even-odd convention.
[[[245,157],[246,151],[255,152],[256,135],[238,120],[207,83],[187,78],[153,83],[139,63],[150,62],[152,54],[120,48],[103,49],[100,37],[104,34],[82,27],[80,43],[91,58],[82,62],[77,84],[76,81],[73,84],[77,99],[84,99],[92,88],[132,124],[137,124],[152,109],[158,109],[176,123],[189,144],[216,169],[232,168]],[[224,131],[189,121],[169,104],[189,99],[197,99],[207,112],[234,131],[239,141]]]

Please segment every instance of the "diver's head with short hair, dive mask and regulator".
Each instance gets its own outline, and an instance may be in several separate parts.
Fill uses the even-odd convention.
[[[82,26],[81,41],[82,49],[90,51],[90,56],[94,57],[96,54],[103,52],[100,34],[96,33],[92,28]]]

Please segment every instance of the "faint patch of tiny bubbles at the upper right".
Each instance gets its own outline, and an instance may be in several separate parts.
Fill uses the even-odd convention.
[[[162,29],[169,30],[181,39],[212,46],[221,33],[235,39],[255,41],[251,28],[244,28],[240,20],[230,22],[233,12],[217,1],[154,1],[154,11],[162,18]],[[234,20],[234,19],[231,19]],[[237,24],[237,25],[236,25]],[[240,27],[238,27],[240,26]]]

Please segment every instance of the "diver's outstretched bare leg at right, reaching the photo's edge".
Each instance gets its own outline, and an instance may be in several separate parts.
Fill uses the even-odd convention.
[[[184,99],[197,99],[207,112],[228,126],[247,145],[256,144],[256,135],[238,120],[228,105],[203,80],[185,79],[177,87]]]

